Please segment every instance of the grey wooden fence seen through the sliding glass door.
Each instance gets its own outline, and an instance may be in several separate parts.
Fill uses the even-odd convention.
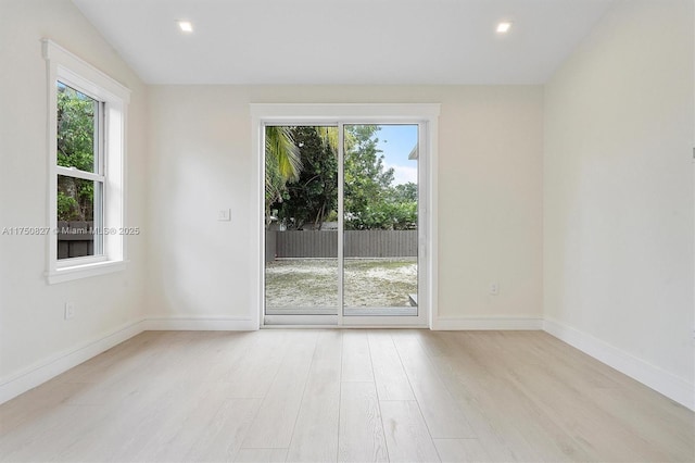
[[[417,230],[345,230],[345,258],[415,258]],[[277,258],[336,258],[338,232],[266,230],[266,261]]]

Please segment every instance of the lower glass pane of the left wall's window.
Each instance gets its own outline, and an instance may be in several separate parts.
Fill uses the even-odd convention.
[[[103,184],[58,176],[58,259],[102,253]]]

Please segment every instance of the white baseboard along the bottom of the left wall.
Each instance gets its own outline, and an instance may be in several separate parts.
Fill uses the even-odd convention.
[[[61,373],[139,335],[143,330],[142,321],[126,324],[98,339],[60,352],[24,368],[11,377],[0,379],[0,403],[34,389]]]

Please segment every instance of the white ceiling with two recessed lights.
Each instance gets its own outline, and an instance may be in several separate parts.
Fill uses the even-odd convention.
[[[311,85],[542,84],[612,1],[73,0],[149,84]]]

